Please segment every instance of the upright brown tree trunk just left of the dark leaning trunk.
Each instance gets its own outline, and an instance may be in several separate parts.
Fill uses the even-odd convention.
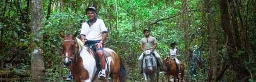
[[[208,18],[208,30],[209,30],[209,45],[210,45],[210,72],[208,82],[214,82],[217,75],[217,38],[216,38],[216,25],[214,22],[215,13],[212,10],[213,0],[205,0],[204,6],[206,9],[206,15]]]

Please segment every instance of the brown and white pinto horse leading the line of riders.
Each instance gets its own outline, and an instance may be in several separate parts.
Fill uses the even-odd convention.
[[[64,41],[62,41],[63,63],[70,67],[75,81],[93,82],[98,76],[98,73],[96,73],[98,68],[96,67],[96,61],[94,59],[96,54],[91,48],[84,45],[80,39],[76,38],[76,34],[68,34],[66,36],[62,33],[59,34],[64,39]],[[110,70],[106,71],[106,78],[108,75],[111,75],[112,82],[125,82],[126,71],[122,63],[120,63],[118,54],[109,48],[104,48],[104,50],[111,54],[110,57],[107,57]],[[120,72],[120,70],[122,72]],[[104,81],[107,80],[104,78]]]

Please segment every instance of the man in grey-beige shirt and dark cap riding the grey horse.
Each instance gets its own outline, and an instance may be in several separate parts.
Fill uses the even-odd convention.
[[[155,39],[155,37],[150,36],[150,31],[148,29],[144,29],[143,33],[144,33],[145,37],[143,37],[140,40],[140,48],[142,49],[143,52],[145,50],[150,49],[151,52],[154,53],[154,56],[158,61],[159,68],[162,71],[163,70],[163,61],[162,61],[162,58],[157,53],[157,51],[155,50],[155,48],[157,47],[157,40]],[[143,73],[143,71],[142,71],[143,55],[144,54],[142,53],[139,57],[139,73]]]

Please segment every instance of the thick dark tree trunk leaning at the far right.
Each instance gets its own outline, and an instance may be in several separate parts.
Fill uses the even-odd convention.
[[[236,78],[238,81],[245,81],[248,82],[247,76],[250,74],[248,71],[245,69],[244,66],[244,58],[248,54],[244,53],[238,53],[238,50],[236,50],[236,45],[235,45],[235,39],[232,34],[232,29],[230,29],[230,19],[229,19],[229,9],[228,9],[228,0],[220,0],[220,15],[221,15],[221,28],[225,32],[227,36],[226,40],[226,47],[228,51],[228,56],[230,59],[230,64],[232,64],[232,70],[236,72]],[[236,57],[239,56],[239,57]],[[246,79],[245,79],[246,78]]]

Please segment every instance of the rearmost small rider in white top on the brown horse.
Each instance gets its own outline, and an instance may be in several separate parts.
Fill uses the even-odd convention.
[[[176,42],[172,42],[170,45],[171,45],[171,48],[169,49],[169,57],[171,57],[172,60],[175,60],[177,67],[178,67],[178,73],[180,73],[180,62],[177,59],[178,50],[175,47]]]

